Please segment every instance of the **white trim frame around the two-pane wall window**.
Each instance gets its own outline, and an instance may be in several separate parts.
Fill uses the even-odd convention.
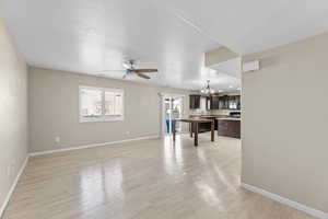
[[[82,89],[90,89],[90,90],[96,90],[96,91],[102,91],[103,96],[102,96],[102,107],[103,112],[105,110],[105,92],[116,92],[120,93],[122,96],[122,115],[121,116],[108,116],[108,115],[102,115],[102,116],[94,116],[94,117],[83,117],[82,116],[82,108],[81,108],[81,103],[82,103],[82,96],[81,96],[81,90]],[[116,122],[116,120],[124,120],[125,119],[125,92],[122,89],[112,89],[112,88],[98,88],[98,87],[87,87],[87,85],[79,85],[79,118],[80,123],[102,123],[102,122]]]

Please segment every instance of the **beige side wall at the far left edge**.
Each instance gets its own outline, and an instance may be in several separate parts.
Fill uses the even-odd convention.
[[[0,19],[0,209],[26,153],[27,70]]]

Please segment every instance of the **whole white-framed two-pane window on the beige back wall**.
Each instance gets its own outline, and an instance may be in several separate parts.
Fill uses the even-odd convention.
[[[80,87],[80,122],[124,119],[124,91]]]

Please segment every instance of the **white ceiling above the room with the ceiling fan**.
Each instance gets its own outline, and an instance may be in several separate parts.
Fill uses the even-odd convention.
[[[160,72],[129,80],[191,90],[241,84],[232,62],[204,69],[207,50],[244,55],[328,31],[327,0],[1,0],[0,11],[32,66],[98,74],[133,58]]]

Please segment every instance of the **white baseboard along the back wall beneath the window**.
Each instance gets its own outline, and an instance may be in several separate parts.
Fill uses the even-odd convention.
[[[56,150],[32,152],[32,153],[30,153],[30,157],[45,155],[45,154],[50,154],[50,153],[63,152],[63,151],[109,146],[109,145],[124,143],[124,142],[130,142],[130,141],[137,141],[137,140],[155,139],[155,138],[160,138],[160,136],[145,136],[145,137],[130,138],[130,139],[109,141],[109,142],[103,142],[103,143],[90,143],[90,145],[85,145],[85,146],[75,146],[75,147],[69,147],[69,148],[62,148],[62,149],[56,149]]]

